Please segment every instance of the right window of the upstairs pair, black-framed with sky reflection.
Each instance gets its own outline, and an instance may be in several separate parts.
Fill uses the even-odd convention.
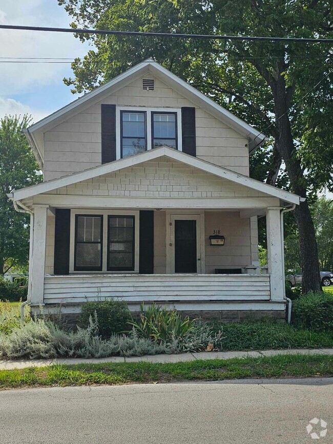
[[[163,145],[177,149],[176,113],[152,113],[152,148]]]

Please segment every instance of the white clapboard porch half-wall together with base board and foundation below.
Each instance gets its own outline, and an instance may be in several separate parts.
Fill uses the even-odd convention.
[[[157,303],[192,318],[238,321],[262,316],[284,318],[285,302],[270,300],[269,274],[70,274],[46,276],[44,307],[32,312],[61,312],[79,318],[82,303],[116,298],[133,314],[140,304]]]

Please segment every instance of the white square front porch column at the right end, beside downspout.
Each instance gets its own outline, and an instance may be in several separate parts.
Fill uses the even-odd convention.
[[[267,208],[267,259],[270,273],[270,299],[283,300],[282,246],[280,227],[280,208]]]

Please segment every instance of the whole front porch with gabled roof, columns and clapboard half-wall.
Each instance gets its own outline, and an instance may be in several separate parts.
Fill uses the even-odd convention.
[[[133,310],[156,302],[196,314],[283,315],[281,209],[298,196],[164,147],[14,199],[32,214],[36,311],[59,304],[79,311],[87,300],[116,297]],[[262,216],[267,274],[259,272]]]

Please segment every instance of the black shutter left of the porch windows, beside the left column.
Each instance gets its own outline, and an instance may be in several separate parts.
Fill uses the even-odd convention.
[[[69,274],[69,240],[71,210],[55,210],[54,274]]]

